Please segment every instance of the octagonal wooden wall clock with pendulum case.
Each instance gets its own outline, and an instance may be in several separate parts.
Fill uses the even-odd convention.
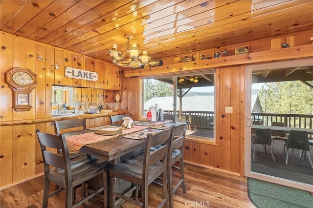
[[[12,88],[15,111],[29,111],[31,92],[37,85],[37,75],[30,69],[15,67],[5,73],[5,82]]]

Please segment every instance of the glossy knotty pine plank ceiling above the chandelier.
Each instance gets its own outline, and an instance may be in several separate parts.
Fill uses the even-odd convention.
[[[111,62],[125,34],[152,59],[313,29],[311,0],[0,0],[0,30]]]

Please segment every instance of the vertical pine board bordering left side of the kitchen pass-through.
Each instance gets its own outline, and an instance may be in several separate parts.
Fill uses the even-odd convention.
[[[51,65],[54,65],[54,48],[46,47],[46,57],[48,61],[46,61],[46,70],[45,70],[45,116],[51,117],[51,103],[52,103],[52,84],[55,83],[54,73],[55,68]]]

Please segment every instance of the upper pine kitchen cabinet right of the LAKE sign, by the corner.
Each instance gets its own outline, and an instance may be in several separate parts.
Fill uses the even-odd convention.
[[[106,64],[105,89],[121,90],[121,76],[118,66]]]

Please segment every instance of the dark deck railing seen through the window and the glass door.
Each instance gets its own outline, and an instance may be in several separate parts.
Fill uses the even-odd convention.
[[[173,114],[173,111],[167,112]],[[179,111],[176,117],[179,118]],[[283,122],[288,127],[313,128],[312,114],[251,113],[251,118],[262,125]],[[186,121],[189,122],[189,130],[214,131],[214,111],[182,111],[181,122]]]

